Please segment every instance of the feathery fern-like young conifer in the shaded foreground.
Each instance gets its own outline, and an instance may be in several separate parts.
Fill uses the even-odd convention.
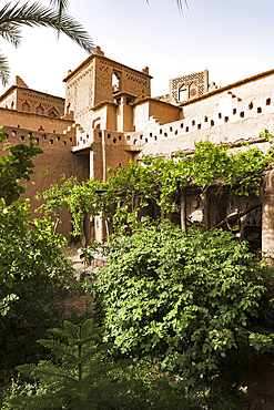
[[[38,366],[19,366],[19,372],[40,381],[42,393],[40,390],[34,396],[12,398],[14,409],[115,409],[115,400],[126,391],[126,382],[114,382],[112,373],[125,363],[104,363],[102,357],[111,346],[99,344],[101,329],[89,319],[81,325],[64,321],[63,329],[49,331],[49,339],[38,341],[49,348],[60,363],[40,361]]]

